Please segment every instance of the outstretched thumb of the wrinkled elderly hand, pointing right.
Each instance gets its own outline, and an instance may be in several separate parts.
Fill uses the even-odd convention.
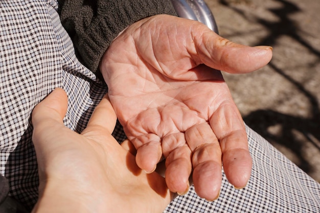
[[[193,35],[201,63],[227,73],[250,73],[265,66],[272,58],[270,46],[250,47],[234,43],[211,30]]]

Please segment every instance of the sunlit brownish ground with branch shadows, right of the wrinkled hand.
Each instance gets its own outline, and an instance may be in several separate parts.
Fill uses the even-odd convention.
[[[320,182],[320,2],[205,0],[221,36],[270,45],[252,74],[223,74],[244,121]]]

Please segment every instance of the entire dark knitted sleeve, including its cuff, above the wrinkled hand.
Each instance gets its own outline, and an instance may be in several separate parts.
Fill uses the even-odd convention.
[[[126,27],[156,14],[176,15],[170,0],[97,0],[87,5],[80,0],[60,0],[59,4],[62,25],[80,60],[93,72],[112,40]]]

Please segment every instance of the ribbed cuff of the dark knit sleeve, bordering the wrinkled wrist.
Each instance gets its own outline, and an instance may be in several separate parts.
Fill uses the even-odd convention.
[[[107,1],[98,8],[96,18],[85,29],[76,48],[84,64],[93,72],[98,70],[102,55],[120,32],[140,19],[157,15],[175,15],[170,0],[166,1]]]

